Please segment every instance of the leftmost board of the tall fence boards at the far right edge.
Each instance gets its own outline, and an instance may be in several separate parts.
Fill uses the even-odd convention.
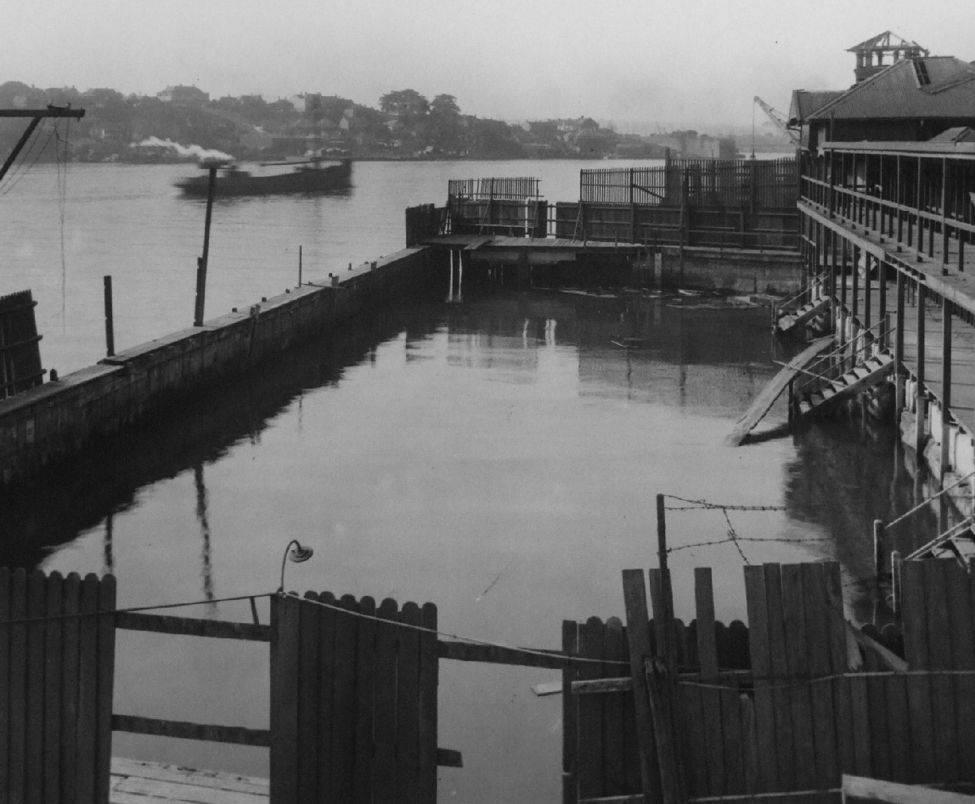
[[[904,654],[911,670],[927,670],[927,617],[923,567],[921,561],[904,561],[901,565],[904,621]],[[931,690],[928,678],[912,675],[907,679],[908,715],[911,754],[915,784],[934,779],[934,723],[931,717]]]

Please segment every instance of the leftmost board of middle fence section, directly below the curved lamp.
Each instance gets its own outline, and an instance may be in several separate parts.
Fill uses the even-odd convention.
[[[291,594],[271,598],[271,797],[297,797],[298,649],[300,600]]]

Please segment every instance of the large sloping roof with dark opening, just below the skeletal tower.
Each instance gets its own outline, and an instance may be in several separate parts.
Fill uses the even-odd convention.
[[[975,66],[954,56],[902,58],[812,112],[809,120],[975,120]]]

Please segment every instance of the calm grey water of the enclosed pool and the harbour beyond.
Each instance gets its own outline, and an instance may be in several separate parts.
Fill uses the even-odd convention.
[[[401,248],[403,209],[443,203],[450,177],[533,174],[570,200],[580,167],[367,163],[342,195],[220,204],[208,314],[292,286],[298,245],[306,277]],[[37,170],[0,197],[0,292],[34,290],[45,366],[100,357],[103,274],[119,348],[190,322],[203,207],[170,186],[190,170],[71,166],[63,205],[55,170]],[[6,500],[0,557],[110,568],[121,604],[143,605],[269,592],[298,537],[316,553],[289,566],[289,588],[432,600],[448,632],[558,647],[563,619],[622,615],[620,570],[655,565],[663,492],[783,508],[729,515],[742,536],[781,540],[744,543],[744,557],[839,559],[852,613],[870,618],[871,522],[911,505],[892,434],[724,446],[786,355],[766,310],[674,304],[534,293],[382,311]],[[647,348],[620,350],[619,336]],[[762,428],[783,419],[773,408]],[[669,514],[677,547],[727,531],[720,512]],[[715,568],[719,616],[743,618],[729,544],[673,554],[679,616],[693,616],[701,565]],[[238,603],[187,613],[249,618]],[[120,632],[118,667],[117,712],[266,727],[266,646]],[[441,771],[443,800],[560,800],[561,701],[529,689],[558,673],[441,673],[440,745],[465,764]],[[267,771],[261,749],[116,735],[115,751]]]

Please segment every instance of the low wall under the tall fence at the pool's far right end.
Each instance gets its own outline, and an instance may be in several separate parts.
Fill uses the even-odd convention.
[[[658,287],[792,293],[800,288],[798,253],[665,247],[654,277]]]

